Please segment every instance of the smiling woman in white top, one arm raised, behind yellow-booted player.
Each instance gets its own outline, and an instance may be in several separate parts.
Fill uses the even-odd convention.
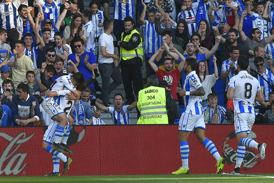
[[[218,79],[218,68],[216,64],[216,57],[213,55],[213,63],[214,63],[214,74],[206,75],[206,63],[204,61],[200,61],[198,63],[198,67],[196,69],[196,74],[198,75],[206,94],[202,96],[202,106],[207,106],[209,103],[207,102],[207,95],[211,94],[211,88],[215,84]]]

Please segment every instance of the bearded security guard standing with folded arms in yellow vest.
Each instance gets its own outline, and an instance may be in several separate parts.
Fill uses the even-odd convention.
[[[125,17],[124,27],[125,31],[122,32],[121,41],[114,41],[114,45],[120,46],[120,65],[122,66],[122,79],[127,99],[125,104],[130,105],[135,101],[135,97],[132,94],[132,83],[136,96],[144,88],[140,69],[144,53],[142,38],[140,33],[134,28],[132,17]]]

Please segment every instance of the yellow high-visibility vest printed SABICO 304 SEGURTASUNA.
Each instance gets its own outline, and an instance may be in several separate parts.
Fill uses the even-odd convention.
[[[139,91],[137,107],[141,116],[137,124],[168,124],[165,90],[150,86]]]

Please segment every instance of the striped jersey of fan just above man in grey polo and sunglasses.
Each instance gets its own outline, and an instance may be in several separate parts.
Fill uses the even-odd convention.
[[[252,19],[252,27],[258,28],[262,32],[261,39],[268,37],[268,28],[269,28],[269,22],[268,20],[265,20],[262,15],[259,15],[258,13],[253,12],[253,14],[250,16]]]

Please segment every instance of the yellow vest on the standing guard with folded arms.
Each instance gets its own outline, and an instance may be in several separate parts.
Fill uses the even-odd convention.
[[[123,40],[122,41],[125,41],[125,42],[129,42],[132,34],[134,33],[138,33],[140,35],[140,33],[136,30],[136,29],[133,29],[131,31],[131,33],[129,35],[126,35],[125,37],[123,37],[124,35],[124,32],[122,32],[122,38]],[[143,45],[142,45],[142,37],[140,36],[141,38],[141,42],[139,43],[139,45],[136,47],[137,49],[137,53],[138,53],[138,56],[142,59],[143,61],[143,55],[144,55],[144,52],[143,52]],[[120,61],[121,61],[121,58],[123,58],[123,60],[128,60],[128,59],[132,59],[136,57],[136,51],[135,49],[132,49],[132,50],[126,50],[124,48],[120,48]]]

